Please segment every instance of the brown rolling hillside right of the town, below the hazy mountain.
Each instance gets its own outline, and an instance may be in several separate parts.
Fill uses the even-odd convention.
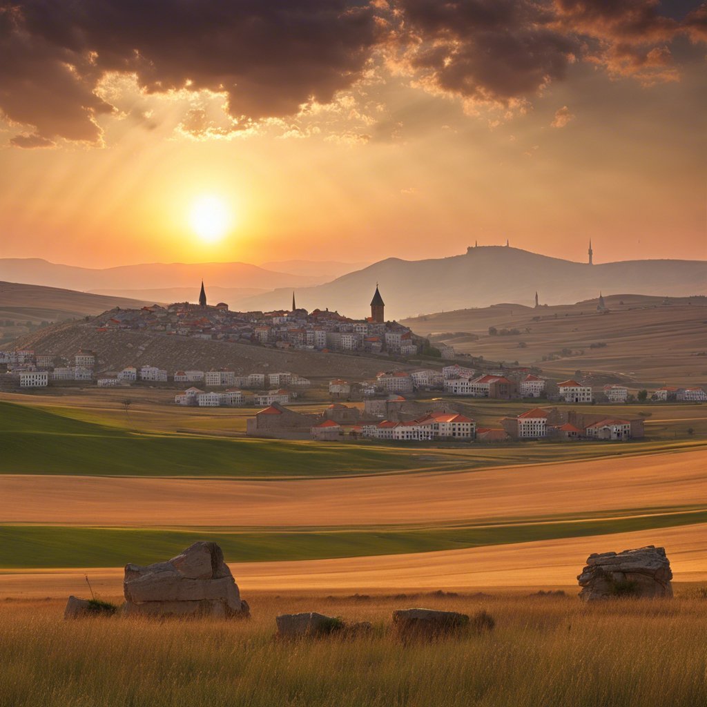
[[[493,361],[537,365],[565,378],[576,370],[615,373],[641,385],[707,382],[707,298],[604,297],[572,305],[500,304],[403,320],[414,332]],[[489,334],[495,327],[496,335]],[[515,333],[503,334],[503,329]],[[563,349],[565,351],[563,352]]]

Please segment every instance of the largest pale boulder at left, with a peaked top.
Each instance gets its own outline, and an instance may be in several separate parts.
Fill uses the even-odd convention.
[[[167,562],[125,566],[125,613],[245,617],[248,605],[215,542],[195,542]]]

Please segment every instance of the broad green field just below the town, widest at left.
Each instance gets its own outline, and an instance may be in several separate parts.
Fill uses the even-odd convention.
[[[482,406],[479,406],[482,407]],[[493,405],[505,411],[508,404]],[[696,407],[707,411],[707,407]],[[42,409],[0,401],[0,473],[150,477],[335,477],[344,474],[481,469],[506,464],[647,454],[704,445],[703,437],[669,434],[623,444],[430,443],[259,440],[177,432],[136,433]],[[662,423],[670,426],[670,423]],[[696,425],[698,422],[683,423]]]

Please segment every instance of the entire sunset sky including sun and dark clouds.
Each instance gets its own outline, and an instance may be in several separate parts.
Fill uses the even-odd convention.
[[[0,0],[0,257],[704,259],[706,41],[683,1]]]

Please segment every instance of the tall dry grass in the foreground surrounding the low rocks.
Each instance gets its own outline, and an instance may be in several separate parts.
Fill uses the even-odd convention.
[[[59,602],[0,604],[0,704],[12,707],[694,707],[707,696],[706,602],[569,597],[252,600],[251,621],[62,621]],[[403,645],[393,609],[487,609],[496,630]],[[372,636],[273,639],[319,609]]]

